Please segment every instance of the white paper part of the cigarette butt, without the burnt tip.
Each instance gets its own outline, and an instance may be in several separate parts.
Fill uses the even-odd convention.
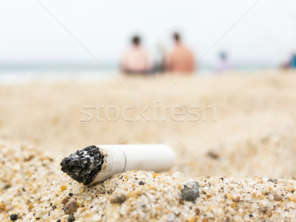
[[[157,145],[96,145],[105,154],[102,170],[91,184],[103,182],[114,174],[127,170],[161,172],[169,170],[176,161],[175,151]]]

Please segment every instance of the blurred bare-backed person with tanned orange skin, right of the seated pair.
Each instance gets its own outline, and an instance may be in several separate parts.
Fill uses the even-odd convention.
[[[194,58],[190,49],[181,42],[179,33],[174,33],[175,47],[168,57],[167,68],[173,73],[193,73]]]

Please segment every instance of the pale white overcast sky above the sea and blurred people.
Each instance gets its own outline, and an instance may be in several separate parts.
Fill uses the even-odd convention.
[[[102,63],[117,62],[132,34],[150,55],[177,30],[197,58],[257,0],[40,0]],[[159,3],[161,2],[161,3]],[[37,0],[0,3],[0,62],[96,62]],[[202,59],[278,64],[296,49],[296,0],[260,0]]]

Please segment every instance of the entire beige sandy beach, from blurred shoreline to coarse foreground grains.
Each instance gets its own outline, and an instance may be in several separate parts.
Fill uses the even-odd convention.
[[[68,221],[62,200],[69,192],[79,205],[76,221],[295,218],[296,73],[180,77],[0,86],[0,221],[12,214]],[[185,114],[172,116],[182,111],[174,107]],[[80,111],[92,120],[81,121],[87,115]],[[61,172],[70,153],[115,143],[168,144],[177,163],[161,175],[129,171],[95,187]],[[184,176],[171,176],[177,171]],[[200,196],[183,200],[181,190],[193,180]],[[125,201],[114,202],[118,195]]]

